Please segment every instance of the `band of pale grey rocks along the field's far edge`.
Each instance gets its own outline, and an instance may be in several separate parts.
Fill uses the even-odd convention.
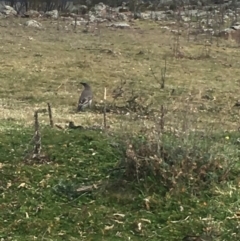
[[[41,22],[46,18],[50,18],[61,21],[61,25],[64,25],[63,27],[66,30],[70,25],[89,28],[90,25],[101,23],[104,23],[107,27],[130,28],[136,19],[156,22],[175,21],[188,28],[193,34],[208,33],[224,39],[232,38],[238,41],[240,27],[237,19],[240,8],[228,7],[230,2],[227,1],[225,5],[215,4],[211,6],[193,4],[175,10],[171,10],[169,5],[163,7],[165,10],[155,10],[151,4],[145,4],[144,7],[139,5],[136,12],[131,12],[129,6],[125,4],[112,8],[99,3],[90,9],[86,5],[80,5],[77,11],[76,8],[65,12],[59,12],[56,9],[47,12],[29,10],[21,15],[14,8],[2,5],[0,7],[0,17],[26,18],[26,26],[39,29],[44,28],[44,24]],[[167,26],[165,28],[174,31]]]

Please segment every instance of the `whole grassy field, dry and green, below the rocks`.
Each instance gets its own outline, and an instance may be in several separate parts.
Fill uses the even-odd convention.
[[[182,29],[176,54],[155,22],[86,33],[24,21],[0,23],[0,238],[239,240],[237,44]],[[94,107],[75,113],[82,80]],[[65,128],[103,124],[105,87],[108,130]],[[63,129],[40,114],[45,157],[29,161],[47,102]]]

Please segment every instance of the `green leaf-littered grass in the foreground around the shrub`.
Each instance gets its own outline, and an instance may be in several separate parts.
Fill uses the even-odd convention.
[[[239,240],[239,166],[228,180],[208,184],[205,190],[194,189],[189,180],[189,185],[182,182],[181,189],[167,191],[154,176],[130,182],[111,171],[123,158],[112,145],[116,137],[44,128],[48,161],[26,163],[32,130],[11,122],[2,125],[8,127],[0,136],[3,240],[171,241],[187,235]],[[229,137],[218,155],[234,160],[236,136]],[[96,189],[77,191],[93,184]]]

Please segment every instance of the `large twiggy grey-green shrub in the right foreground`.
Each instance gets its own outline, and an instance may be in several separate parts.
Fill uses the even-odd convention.
[[[167,190],[179,187],[192,191],[229,178],[230,159],[218,153],[218,142],[199,133],[185,139],[173,133],[161,135],[159,143],[147,136],[128,141],[125,153],[125,178],[145,181],[149,178]]]

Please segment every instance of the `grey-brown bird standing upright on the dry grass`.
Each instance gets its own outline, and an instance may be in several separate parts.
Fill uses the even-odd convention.
[[[93,99],[93,94],[92,94],[92,89],[89,84],[85,82],[81,82],[84,86],[84,90],[82,91],[79,101],[78,101],[78,111],[83,111],[86,107],[91,107],[92,104],[92,99]]]

